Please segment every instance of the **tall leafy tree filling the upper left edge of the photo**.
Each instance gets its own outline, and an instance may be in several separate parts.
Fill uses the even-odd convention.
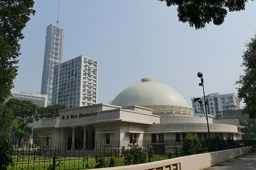
[[[20,55],[19,41],[24,38],[21,31],[35,14],[33,0],[0,1],[0,103],[10,95],[13,79],[17,76],[17,57]]]

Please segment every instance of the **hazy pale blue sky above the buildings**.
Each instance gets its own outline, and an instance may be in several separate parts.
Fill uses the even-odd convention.
[[[177,7],[157,0],[36,0],[22,33],[18,75],[13,90],[40,92],[46,26],[64,27],[63,59],[87,55],[98,64],[98,103],[107,103],[142,78],[168,85],[192,107],[205,95],[237,92],[243,74],[244,43],[254,36],[256,2],[228,12],[225,22],[196,30],[179,22]]]

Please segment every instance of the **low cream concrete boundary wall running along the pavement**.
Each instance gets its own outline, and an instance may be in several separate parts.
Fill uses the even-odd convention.
[[[161,160],[156,162],[138,164],[138,165],[129,165],[129,166],[117,166],[109,168],[99,168],[105,170],[201,170],[208,168],[222,162],[225,162],[230,159],[234,159],[241,155],[250,152],[251,147],[243,147],[236,149],[229,149],[225,151],[217,151],[210,153],[202,153],[196,155],[189,155],[179,158]]]

